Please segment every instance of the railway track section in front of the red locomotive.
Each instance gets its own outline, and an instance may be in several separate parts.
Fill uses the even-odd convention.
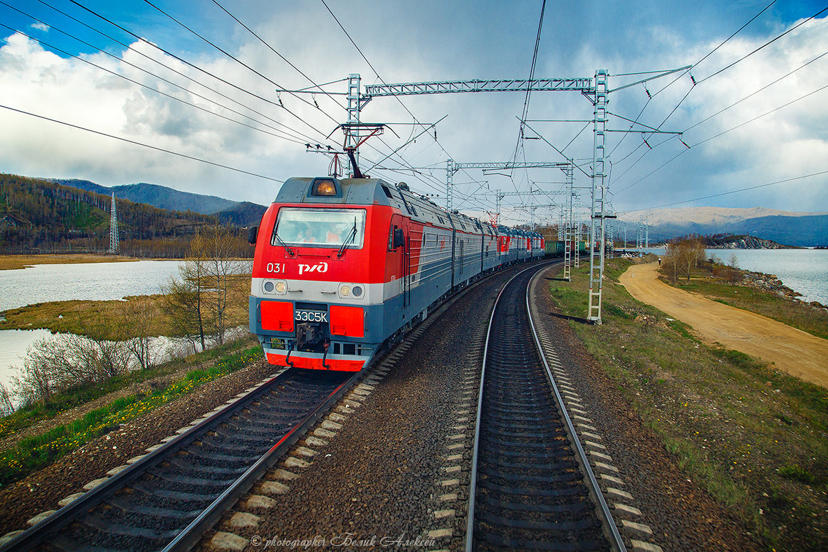
[[[288,369],[0,552],[189,550],[360,375]]]

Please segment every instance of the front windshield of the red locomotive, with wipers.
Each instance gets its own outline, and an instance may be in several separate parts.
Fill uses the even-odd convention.
[[[279,210],[271,245],[282,242],[302,247],[348,247],[361,249],[365,238],[365,209]]]

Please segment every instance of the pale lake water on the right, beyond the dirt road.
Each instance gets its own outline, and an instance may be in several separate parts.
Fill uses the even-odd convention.
[[[662,255],[663,249],[647,251]],[[777,276],[785,286],[802,294],[804,301],[828,305],[828,249],[708,249],[707,257],[748,271]]]

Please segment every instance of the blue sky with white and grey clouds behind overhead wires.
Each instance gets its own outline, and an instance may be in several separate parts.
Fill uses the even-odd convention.
[[[828,3],[769,3],[550,1],[534,57],[542,0],[0,0],[0,172],[269,204],[283,180],[329,174],[305,145],[341,149],[349,74],[528,79],[534,59],[535,79],[609,72],[615,212],[828,212]],[[574,159],[588,206],[592,118],[575,91],[373,98],[361,119],[386,126],[359,166],[445,206],[448,159]],[[485,217],[501,195],[508,223],[566,203],[556,168],[453,181],[454,209]]]

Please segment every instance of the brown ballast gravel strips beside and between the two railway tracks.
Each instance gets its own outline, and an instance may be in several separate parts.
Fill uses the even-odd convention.
[[[509,272],[467,290],[405,353],[392,354],[396,361],[373,390],[346,401],[349,408],[340,406],[336,412],[344,419],[330,418],[341,428],[320,427],[326,433],[317,441],[306,436],[306,449],[315,454],[282,461],[282,471],[271,473],[277,481],[258,487],[278,486],[279,492],[268,498],[254,489],[227,513],[227,523],[205,536],[201,549],[214,550],[207,543],[219,536],[214,542],[245,550],[462,550],[482,341]],[[555,274],[552,269],[543,277]],[[619,468],[624,485],[618,491],[634,497],[630,507],[652,528],[647,541],[662,550],[759,550],[738,521],[686,480],[566,319],[555,315],[546,290],[536,286],[532,297],[545,313],[540,323],[580,396],[580,410]],[[273,371],[259,362],[210,382],[0,489],[0,535],[25,529],[32,516],[57,508],[62,498]],[[237,511],[256,518],[237,516],[231,527]],[[249,522],[238,523],[242,519]]]

